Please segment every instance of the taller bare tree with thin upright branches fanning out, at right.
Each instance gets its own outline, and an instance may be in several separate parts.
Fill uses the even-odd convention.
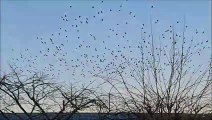
[[[183,28],[177,33],[171,25],[162,33],[160,37],[171,41],[167,44],[162,43],[160,37],[155,38],[152,28],[148,38],[141,29],[137,46],[140,56],[126,59],[110,69],[110,76],[115,77],[102,74],[107,70],[95,75],[115,88],[119,102],[125,105],[121,111],[148,113],[150,119],[169,120],[183,119],[184,114],[198,119],[199,114],[211,112],[210,62],[209,67],[192,64],[195,56],[201,56],[207,48],[208,40],[195,43],[192,37],[189,41],[186,37],[191,36],[186,36],[185,23]]]

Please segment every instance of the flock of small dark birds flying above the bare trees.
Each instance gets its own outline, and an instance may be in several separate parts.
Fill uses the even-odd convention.
[[[100,1],[100,4],[103,5],[104,1]],[[71,5],[68,9],[74,12],[74,7]],[[89,9],[97,10],[98,8],[98,6],[91,5]],[[149,8],[154,9],[155,6]],[[173,26],[162,31],[158,40],[157,38],[153,39],[152,33],[149,32],[148,28],[146,29],[145,24],[139,23],[140,34],[137,36],[140,38],[135,39],[132,36],[132,29],[120,30],[121,27],[130,28],[132,24],[135,24],[132,20],[136,19],[133,11],[128,11],[127,18],[122,21],[117,23],[115,21],[110,26],[106,24],[108,19],[104,16],[116,14],[118,18],[120,14],[126,13],[123,10],[124,5],[120,4],[117,9],[101,9],[91,16],[77,15],[74,18],[64,14],[60,17],[62,25],[58,28],[57,33],[52,33],[48,37],[36,38],[42,46],[42,49],[38,50],[38,55],[31,54],[30,49],[25,49],[19,58],[13,58],[13,60],[24,64],[22,69],[29,72],[39,70],[38,66],[40,65],[41,71],[48,72],[54,77],[67,72],[68,76],[73,78],[79,78],[79,76],[86,78],[89,75],[99,73],[106,73],[110,76],[114,73],[114,68],[123,71],[126,68],[135,68],[133,70],[136,70],[143,62],[145,70],[148,70],[152,65],[153,56],[156,63],[160,63],[164,69],[168,69],[170,66],[170,46],[173,47],[173,40],[174,45],[179,49],[179,46],[185,44],[185,48],[188,48],[185,50],[187,56],[192,56],[195,53],[201,55],[203,50],[209,48],[207,46],[208,40],[188,40],[185,36],[183,38],[183,33],[174,32]],[[127,21],[128,19],[130,20]],[[152,24],[159,23],[158,19],[152,22]],[[176,21],[177,25],[180,23],[181,21]],[[87,29],[90,26],[92,28],[85,31],[84,28]],[[198,30],[194,33],[196,35],[205,34],[204,31],[199,32]],[[152,43],[152,39],[162,41],[163,44]],[[144,55],[143,61],[142,55]],[[192,61],[189,62],[192,66]],[[125,71],[125,74],[132,76],[133,71]]]

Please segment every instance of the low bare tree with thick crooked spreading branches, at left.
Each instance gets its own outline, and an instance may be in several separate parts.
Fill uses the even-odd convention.
[[[28,77],[11,66],[12,72],[1,78],[1,114],[5,119],[66,119],[100,103],[95,91],[87,86],[65,86],[48,75],[34,73]],[[16,113],[23,112],[24,116]],[[11,116],[7,116],[11,113]],[[27,118],[26,118],[27,117]]]

